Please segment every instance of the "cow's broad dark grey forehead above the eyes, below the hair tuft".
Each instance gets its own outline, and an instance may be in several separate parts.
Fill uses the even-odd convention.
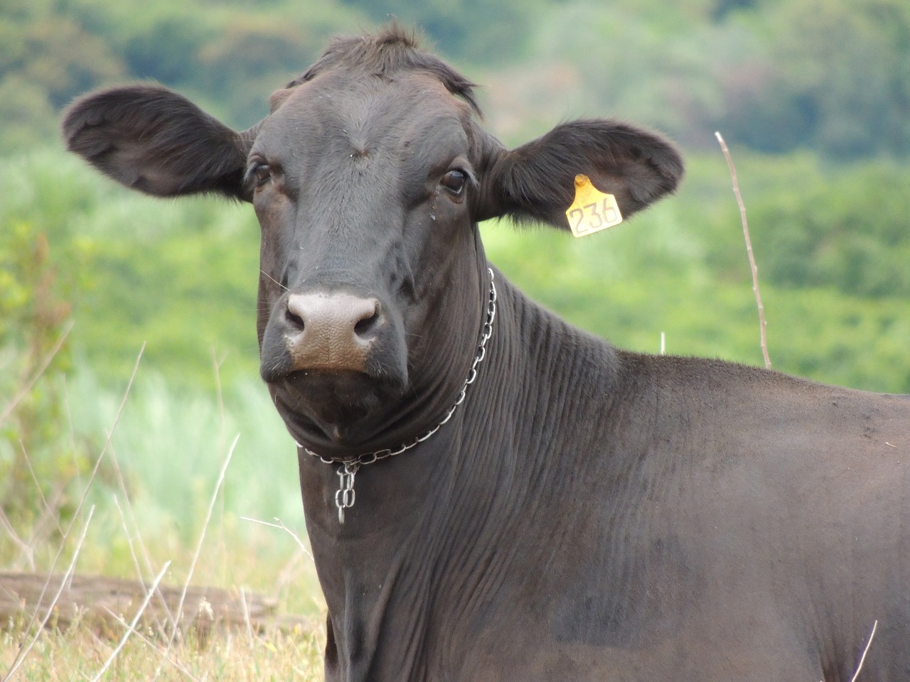
[[[318,75],[263,122],[249,159],[280,168],[311,208],[337,203],[339,193],[356,199],[350,206],[379,196],[407,203],[423,196],[428,178],[478,165],[472,116],[430,74]]]

